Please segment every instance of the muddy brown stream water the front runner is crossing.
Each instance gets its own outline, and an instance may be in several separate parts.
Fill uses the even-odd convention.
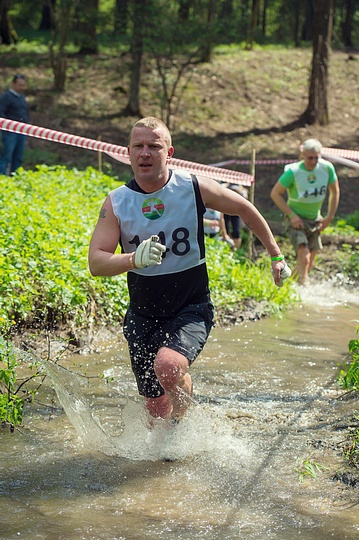
[[[52,368],[58,397],[45,385],[21,432],[1,434],[0,537],[357,539],[358,490],[332,477],[357,406],[335,379],[359,294],[301,294],[283,320],[213,330],[176,427],[148,428],[123,344],[64,363],[108,383]],[[305,460],[322,473],[300,482]]]

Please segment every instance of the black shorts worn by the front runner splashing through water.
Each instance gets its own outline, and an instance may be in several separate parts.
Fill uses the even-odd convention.
[[[154,371],[156,354],[161,347],[183,354],[191,365],[202,351],[212,326],[213,305],[210,301],[187,306],[170,319],[141,317],[130,307],[123,333],[139,394],[156,398],[165,393]]]

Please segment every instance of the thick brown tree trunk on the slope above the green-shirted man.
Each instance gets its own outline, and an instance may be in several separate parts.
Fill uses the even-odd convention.
[[[303,119],[308,124],[329,123],[328,68],[330,43],[333,31],[334,0],[316,0],[313,28],[312,73],[309,87],[309,102]]]

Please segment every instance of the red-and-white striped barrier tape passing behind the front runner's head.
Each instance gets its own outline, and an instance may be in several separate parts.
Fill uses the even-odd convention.
[[[77,135],[70,135],[69,133],[63,133],[61,131],[54,131],[52,129],[33,126],[31,124],[6,120],[5,118],[0,118],[0,129],[22,133],[29,137],[36,137],[47,141],[86,148],[87,150],[95,150],[96,152],[104,152],[122,163],[126,163],[127,165],[130,164],[127,148],[125,146],[78,137]],[[184,161],[176,158],[171,158],[169,164],[178,169],[186,169],[190,172],[201,173],[204,176],[212,176],[216,180],[231,182],[233,184],[250,186],[254,182],[254,177],[250,174],[222,169],[212,165],[203,165],[193,161]]]

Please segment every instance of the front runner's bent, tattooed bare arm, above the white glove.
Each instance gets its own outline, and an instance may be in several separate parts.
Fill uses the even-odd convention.
[[[93,276],[116,276],[134,268],[133,253],[115,254],[120,227],[107,197],[92,234],[88,262]]]

